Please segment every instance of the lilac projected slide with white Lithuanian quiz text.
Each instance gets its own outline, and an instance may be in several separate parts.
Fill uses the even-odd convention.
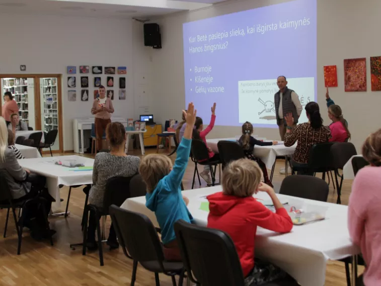
[[[186,103],[206,124],[216,102],[216,125],[276,127],[281,75],[303,107],[316,101],[316,5],[296,0],[185,23]],[[303,110],[299,123],[306,121]]]

